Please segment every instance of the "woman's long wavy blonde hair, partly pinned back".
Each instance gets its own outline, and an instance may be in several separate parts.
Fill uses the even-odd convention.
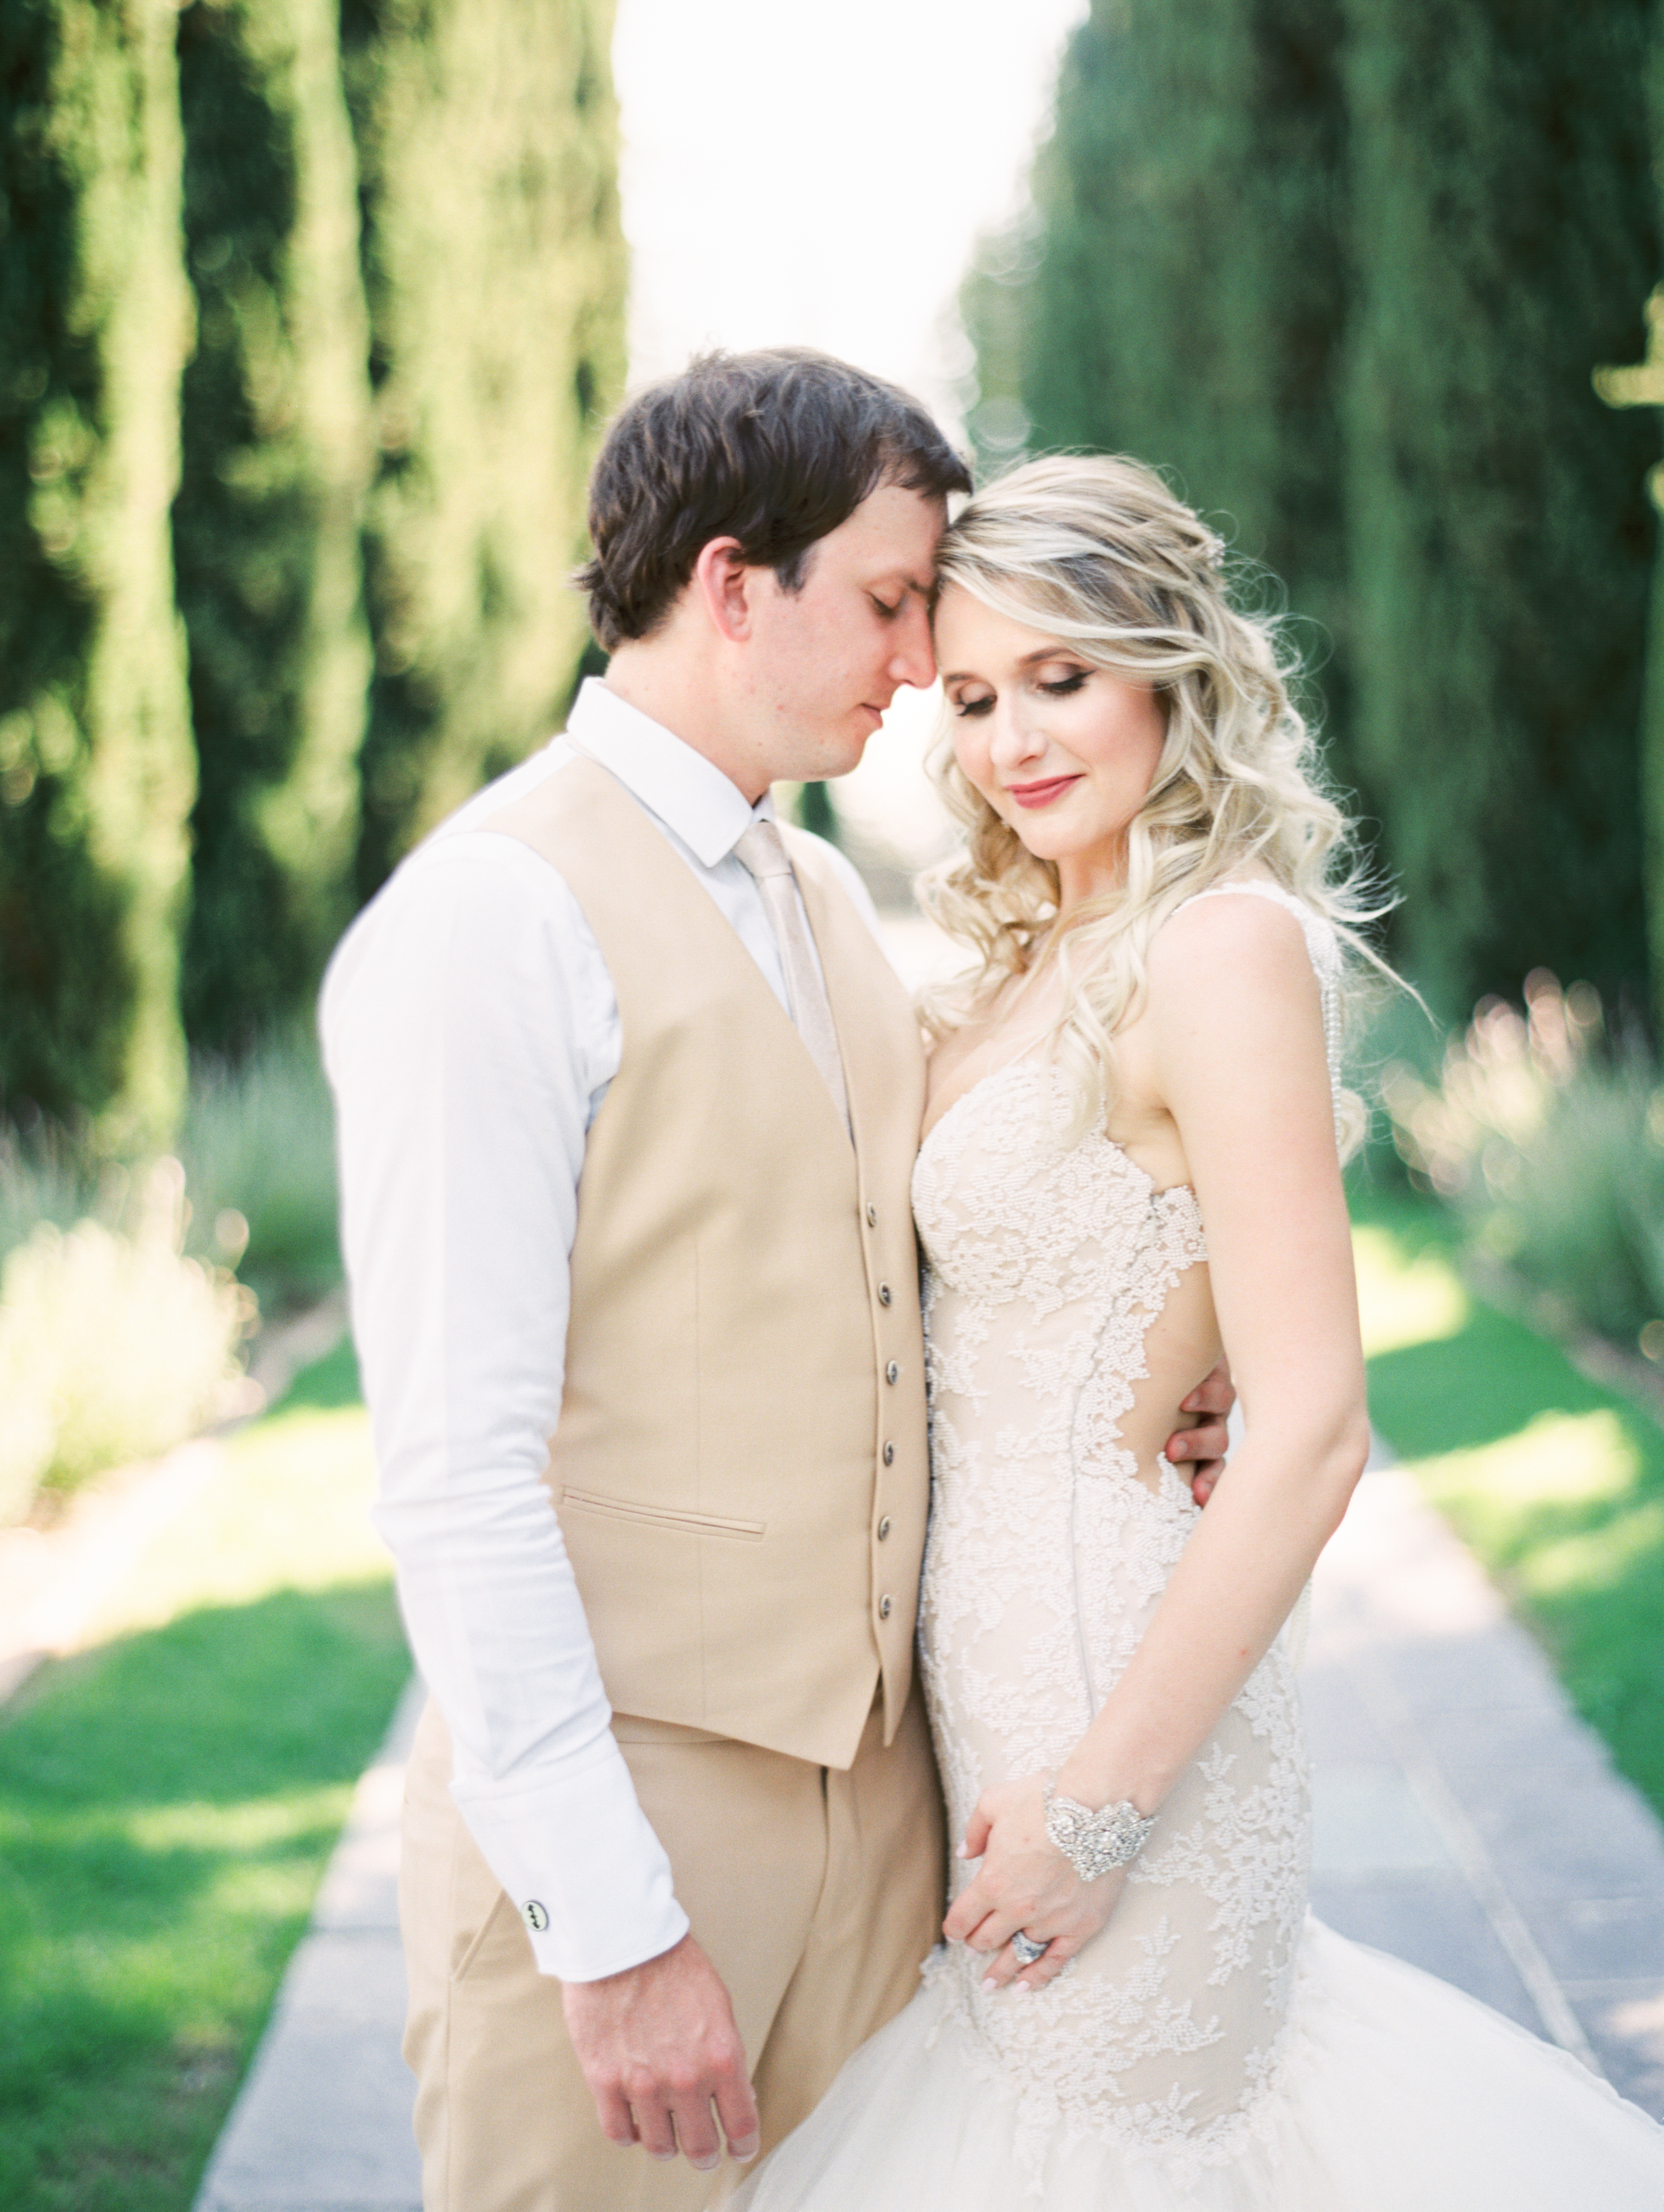
[[[1153,686],[1166,743],[1129,827],[1124,885],[1060,922],[1055,865],[1038,860],[965,776],[945,708],[932,774],[965,845],[921,880],[921,900],[980,967],[927,1000],[934,1035],[976,1018],[1051,953],[1062,973],[1051,1048],[1071,1102],[1064,1141],[1078,1141],[1113,1104],[1113,1042],[1144,1002],[1151,938],[1186,898],[1248,867],[1334,927],[1354,982],[1370,969],[1390,975],[1361,936],[1390,900],[1321,790],[1279,617],[1235,604],[1224,540],[1153,469],[1086,456],[1013,469],[949,524],[938,582]],[[1343,1150],[1365,1124],[1348,1093]]]

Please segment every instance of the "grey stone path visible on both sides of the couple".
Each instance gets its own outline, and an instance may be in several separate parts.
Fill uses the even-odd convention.
[[[1664,1829],[1412,1478],[1372,1469],[1303,1668],[1323,1920],[1471,1991],[1664,2119]],[[409,1692],[197,2212],[418,2212],[398,2057]]]

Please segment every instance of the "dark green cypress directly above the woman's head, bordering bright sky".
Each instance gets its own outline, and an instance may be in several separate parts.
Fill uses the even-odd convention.
[[[996,440],[1171,469],[1272,566],[1343,743],[1337,46],[1339,0],[1093,0],[1033,217],[994,241],[967,319]]]

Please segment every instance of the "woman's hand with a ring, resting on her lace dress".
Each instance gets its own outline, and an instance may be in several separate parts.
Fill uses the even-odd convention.
[[[1062,1973],[1075,1951],[1104,1927],[1126,1887],[1124,1867],[1082,1882],[1047,1836],[1038,1774],[982,1792],[965,1829],[960,1858],[980,1858],[982,1865],[943,1920],[943,1936],[989,1953],[985,1986],[991,1982],[996,1989],[1007,1982],[1042,1989]],[[1018,1929],[1047,1947],[1031,1966],[1011,1949]]]

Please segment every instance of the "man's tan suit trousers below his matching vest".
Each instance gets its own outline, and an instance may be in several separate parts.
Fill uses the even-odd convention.
[[[763,2150],[892,2020],[940,1933],[945,1832],[918,1692],[890,1750],[867,1721],[847,1774],[724,1736],[615,1719],[693,1933],[728,1984]],[[405,1787],[398,1911],[409,1966],[425,2212],[701,2212],[741,2172],[609,2143],[516,1907],[449,1794],[434,1705]]]

